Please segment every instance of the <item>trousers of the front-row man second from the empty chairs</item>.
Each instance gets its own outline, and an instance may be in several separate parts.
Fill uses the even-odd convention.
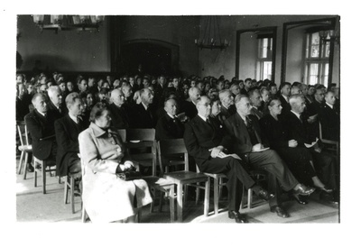
[[[279,205],[281,188],[290,191],[299,184],[299,181],[294,178],[292,172],[276,151],[250,152],[245,154],[245,160],[248,161],[252,169],[267,171],[268,191],[274,193],[274,197],[269,201],[270,206]]]

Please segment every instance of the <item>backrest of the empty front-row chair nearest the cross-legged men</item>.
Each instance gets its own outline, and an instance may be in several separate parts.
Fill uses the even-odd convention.
[[[166,156],[167,159],[173,154],[184,155],[184,170],[190,170],[189,157],[184,139],[168,139],[157,142],[158,160],[162,167],[162,156]],[[178,163],[177,163],[178,164]]]

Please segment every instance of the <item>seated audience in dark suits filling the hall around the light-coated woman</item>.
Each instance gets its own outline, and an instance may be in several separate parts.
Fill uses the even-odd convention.
[[[73,84],[60,73],[29,81],[17,75],[16,85],[16,120],[28,125],[33,155],[56,163],[58,176],[81,179],[78,136],[101,102],[112,127],[155,128],[157,140],[184,137],[201,171],[226,174],[228,216],[237,223],[247,222],[238,212],[241,185],[268,200],[280,217],[290,216],[280,199],[284,191],[306,205],[317,188],[321,199],[338,203],[338,157],[319,141],[319,122],[323,137],[339,141],[337,87],[162,75],[79,75]],[[268,173],[268,191],[248,175],[251,169]]]

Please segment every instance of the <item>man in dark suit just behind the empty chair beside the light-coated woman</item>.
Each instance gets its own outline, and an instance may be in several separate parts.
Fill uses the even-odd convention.
[[[141,104],[134,105],[134,120],[132,126],[140,129],[153,129],[156,121],[156,109],[153,105],[153,91],[143,88],[140,91]]]

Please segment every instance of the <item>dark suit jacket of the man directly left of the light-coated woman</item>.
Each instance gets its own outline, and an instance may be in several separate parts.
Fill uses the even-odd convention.
[[[56,156],[57,175],[62,177],[68,175],[69,159],[78,158],[78,136],[87,126],[84,121],[80,121],[78,124],[74,123],[67,114],[55,121],[54,127],[58,144]]]

